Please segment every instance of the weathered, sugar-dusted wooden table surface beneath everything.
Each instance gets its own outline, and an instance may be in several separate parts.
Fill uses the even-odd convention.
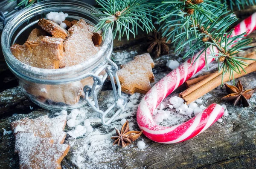
[[[255,11],[252,8],[237,13],[241,18],[249,16]],[[250,37],[253,38],[252,45],[256,42],[256,32]],[[129,42],[123,38],[121,42],[114,41],[113,58],[119,57],[119,53],[128,53],[124,60],[116,61],[120,66],[124,61],[132,60],[136,54],[145,53],[147,49],[145,34],[140,34],[136,39]],[[256,51],[256,48],[247,49],[246,53]],[[240,53],[240,55],[244,55]],[[182,54],[180,54],[182,56]],[[174,54],[173,49],[168,55],[154,58],[155,68],[153,69],[156,82],[164,77],[171,70],[167,68],[166,62],[170,59],[182,62],[181,57]],[[14,153],[14,136],[3,136],[2,128],[10,130],[10,122],[23,117],[35,118],[42,115],[55,117],[54,113],[41,109],[32,103],[22,93],[15,80],[14,75],[7,68],[3,56],[0,57],[0,168],[17,169],[18,156]],[[256,72],[239,78],[246,89],[256,87]],[[237,81],[237,80],[236,80]],[[177,93],[182,91],[184,86],[177,89]],[[105,83],[99,99],[102,108],[111,103],[111,85]],[[124,94],[125,95],[125,94]],[[256,168],[256,94],[250,100],[250,107],[234,107],[221,99],[226,95],[225,89],[220,86],[209,94],[202,97],[205,106],[210,103],[226,104],[229,116],[223,118],[222,123],[215,123],[205,132],[197,137],[177,144],[155,143],[145,136],[139,138],[146,143],[145,149],[137,148],[137,141],[125,148],[109,146],[110,137],[114,133],[114,127],[122,126],[120,120],[125,117],[129,120],[131,127],[137,129],[136,110],[137,105],[143,95],[125,95],[129,99],[130,106],[116,119],[110,126],[102,126],[96,114],[90,107],[84,106],[83,111],[87,112],[86,117],[93,118],[92,126],[94,131],[78,139],[68,139],[65,143],[70,144],[71,149],[64,158],[61,165],[64,169],[71,168]],[[131,105],[132,104],[132,105]],[[19,115],[12,116],[17,113]],[[65,131],[71,128],[66,126]],[[94,144],[97,143],[97,144]],[[83,147],[84,146],[84,147]],[[83,148],[81,148],[83,147]],[[81,155],[84,160],[80,163],[76,161],[76,156]]]

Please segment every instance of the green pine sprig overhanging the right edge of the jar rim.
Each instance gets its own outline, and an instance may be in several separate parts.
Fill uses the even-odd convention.
[[[96,0],[96,2],[102,7],[99,10],[103,13],[95,16],[105,17],[96,25],[97,30],[111,29],[113,39],[118,35],[118,39],[121,40],[125,34],[129,40],[130,34],[134,37],[138,34],[138,29],[147,33],[154,29],[152,23],[154,4],[149,3],[149,0]],[[103,37],[105,33],[104,31]]]

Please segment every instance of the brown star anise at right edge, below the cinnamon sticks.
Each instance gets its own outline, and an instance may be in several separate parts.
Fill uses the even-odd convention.
[[[243,92],[243,86],[241,84],[241,81],[239,80],[236,86],[228,85],[227,83],[224,83],[226,86],[226,91],[229,93],[229,95],[222,97],[221,99],[226,101],[233,101],[234,106],[236,105],[243,105],[244,107],[248,107],[248,99],[253,95],[253,92],[255,92],[255,89],[246,90]]]

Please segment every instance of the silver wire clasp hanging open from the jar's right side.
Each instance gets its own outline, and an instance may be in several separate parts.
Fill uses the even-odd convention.
[[[92,86],[88,86],[88,85],[84,86],[85,99],[86,99],[87,103],[89,104],[89,106],[95,112],[98,113],[99,118],[102,119],[103,125],[109,125],[114,120],[114,118],[122,112],[122,110],[125,108],[125,106],[127,104],[127,99],[121,95],[121,84],[120,84],[119,78],[116,74],[118,67],[117,67],[116,63],[114,63],[112,60],[107,59],[107,61],[108,61],[109,65],[107,65],[105,67],[105,71],[107,72],[107,74],[111,80],[111,85],[113,88],[115,102],[111,106],[109,106],[105,112],[103,112],[102,110],[99,109],[96,87],[97,87],[97,85],[100,86],[100,85],[103,85],[103,83],[104,83],[102,81],[102,78],[99,77],[99,75],[97,75],[97,74],[90,75],[91,77],[93,77],[93,81],[94,81],[93,85]],[[115,81],[116,81],[117,89],[116,89]],[[92,97],[93,99],[91,99],[90,97]],[[93,101],[94,101],[94,103],[93,103]],[[122,105],[120,105],[120,103]],[[106,115],[108,115],[108,113],[116,107],[119,107],[119,109],[114,113],[114,115],[111,118],[109,118],[107,121],[105,121]]]

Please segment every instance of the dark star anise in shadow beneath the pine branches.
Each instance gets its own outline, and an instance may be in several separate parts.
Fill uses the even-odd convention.
[[[148,53],[154,54],[156,57],[159,57],[160,54],[168,54],[169,53],[169,46],[166,44],[166,38],[162,37],[160,32],[154,31],[152,35],[148,36],[148,40],[150,45],[148,46]]]

